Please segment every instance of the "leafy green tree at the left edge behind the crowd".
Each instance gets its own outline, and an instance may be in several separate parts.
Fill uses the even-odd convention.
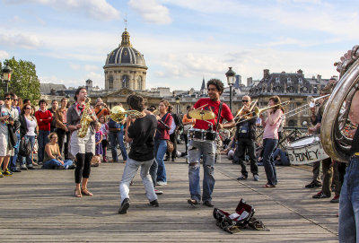
[[[9,65],[13,69],[9,91],[14,92],[22,100],[30,99],[31,103],[39,100],[39,78],[35,65],[29,61],[16,61],[14,57],[5,60],[4,65]],[[1,89],[1,92],[4,94],[4,89]]]

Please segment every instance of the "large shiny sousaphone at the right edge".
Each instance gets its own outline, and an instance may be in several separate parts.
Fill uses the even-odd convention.
[[[359,90],[359,46],[336,63],[340,73],[337,86],[332,91],[320,126],[320,141],[328,156],[335,161],[349,161],[352,138],[348,130],[353,126],[348,117],[355,94]]]

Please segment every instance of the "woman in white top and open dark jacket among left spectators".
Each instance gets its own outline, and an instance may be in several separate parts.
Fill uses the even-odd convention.
[[[20,120],[20,136],[22,139],[26,139],[31,143],[31,151],[33,151],[35,145],[35,137],[39,133],[38,123],[36,117],[31,115],[31,105],[25,103],[22,106],[22,112],[19,117]],[[33,153],[26,157],[22,158],[20,169],[34,169],[33,168]]]

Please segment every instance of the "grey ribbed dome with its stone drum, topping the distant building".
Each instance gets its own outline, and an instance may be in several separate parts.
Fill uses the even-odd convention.
[[[127,88],[133,91],[145,90],[145,77],[148,67],[144,55],[132,47],[127,29],[122,33],[118,48],[109,53],[105,72],[105,90],[118,91]]]

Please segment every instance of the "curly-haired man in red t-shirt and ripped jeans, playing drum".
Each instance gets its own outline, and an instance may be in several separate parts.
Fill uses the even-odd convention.
[[[215,119],[206,121],[196,117],[197,120],[194,126],[195,129],[204,129],[208,133],[216,131],[217,120],[219,120],[218,129],[231,128],[235,126],[231,109],[226,104],[222,103],[221,100],[219,100],[223,90],[223,82],[220,80],[211,79],[207,82],[207,92],[209,98],[199,99],[194,105],[194,108],[213,111],[215,113]],[[191,118],[189,114],[187,114],[187,117]],[[226,124],[222,124],[223,119],[227,120],[228,122]],[[197,132],[204,131],[198,130]],[[190,192],[190,199],[188,199],[188,204],[195,205],[199,204],[201,201],[199,169],[201,156],[203,156],[204,178],[202,200],[204,205],[213,207],[214,205],[212,204],[212,193],[215,188],[215,139],[210,135],[206,136],[204,139],[197,139],[195,137],[189,137],[188,139],[188,178]]]

